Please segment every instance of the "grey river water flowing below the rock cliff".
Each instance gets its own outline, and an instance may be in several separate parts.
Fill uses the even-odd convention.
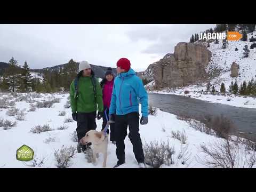
[[[223,114],[234,123],[239,132],[245,133],[245,137],[256,138],[256,109],[233,107],[172,94],[149,93],[148,98],[154,107],[175,115],[183,113],[198,117]]]

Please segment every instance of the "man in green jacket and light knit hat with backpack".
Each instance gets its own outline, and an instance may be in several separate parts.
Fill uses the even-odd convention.
[[[77,121],[78,153],[81,148],[85,151],[88,145],[81,145],[79,142],[87,131],[95,130],[96,111],[98,105],[98,120],[103,115],[102,90],[98,80],[94,77],[94,72],[87,61],[79,63],[79,73],[70,85],[70,103],[72,117]]]

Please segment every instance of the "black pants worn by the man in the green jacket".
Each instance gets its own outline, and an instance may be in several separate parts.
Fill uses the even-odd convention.
[[[96,125],[96,111],[93,111],[91,113],[80,113],[77,112],[77,138],[78,142],[80,139],[82,139],[85,134],[90,130],[95,130]]]

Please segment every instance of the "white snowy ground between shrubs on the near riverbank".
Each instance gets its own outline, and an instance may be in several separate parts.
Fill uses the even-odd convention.
[[[43,98],[35,100],[47,100],[51,97],[60,98],[59,103],[54,103],[52,108],[37,108],[36,111],[27,112],[29,109],[29,103],[26,101],[15,102],[15,107],[19,109],[26,109],[25,121],[18,121],[14,117],[9,117],[6,115],[8,109],[0,109],[0,117],[3,119],[9,119],[10,121],[17,121],[17,126],[12,127],[10,130],[4,130],[0,127],[0,146],[1,146],[1,158],[0,167],[28,167],[24,163],[18,161],[15,157],[16,151],[22,145],[27,145],[31,147],[36,154],[36,157],[42,158],[46,157],[47,161],[42,165],[42,167],[56,167],[56,161],[54,157],[54,151],[61,149],[62,146],[76,147],[77,143],[71,140],[70,133],[76,130],[76,122],[63,123],[65,118],[71,118],[71,109],[65,109],[65,105],[69,94],[42,94]],[[10,95],[2,95],[3,97],[9,97]],[[12,99],[14,100],[14,98]],[[59,111],[66,111],[65,116],[59,116]],[[97,130],[101,130],[102,119],[97,122]],[[30,129],[36,125],[49,124],[54,131],[43,132],[40,134],[31,133]],[[61,125],[67,125],[66,130],[57,130],[57,127]],[[181,164],[182,159],[178,159],[177,156],[186,144],[181,144],[177,139],[171,137],[172,131],[185,131],[187,135],[187,145],[188,145],[188,155],[190,155],[189,160],[183,165]],[[127,131],[129,133],[129,130]],[[220,138],[214,137],[212,135],[207,135],[205,133],[194,130],[185,121],[180,121],[173,114],[165,113],[158,110],[156,116],[149,115],[149,123],[147,125],[140,125],[140,134],[143,144],[149,141],[167,141],[169,140],[170,145],[174,146],[176,151],[174,155],[174,164],[170,167],[206,167],[202,163],[199,163],[196,159],[200,157],[204,159],[205,155],[201,152],[200,144],[207,144],[212,141],[222,140]],[[45,143],[45,139],[49,137],[55,137],[55,142]],[[125,153],[126,153],[126,163],[121,167],[138,167],[135,161],[134,154],[132,151],[132,145],[128,137],[125,139]],[[109,142],[108,146],[108,158],[107,167],[113,167],[116,162],[115,154],[116,146]],[[72,165],[70,167],[102,167],[103,156],[100,155],[98,165],[94,166],[92,163],[87,163],[85,159],[85,154],[76,154],[74,158],[71,159]],[[29,162],[27,162],[29,164]],[[167,167],[167,166],[162,166]]]

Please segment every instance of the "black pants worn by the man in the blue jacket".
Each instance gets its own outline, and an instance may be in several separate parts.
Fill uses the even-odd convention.
[[[118,163],[122,164],[125,162],[125,145],[124,139],[127,135],[127,126],[129,126],[129,139],[132,142],[133,153],[138,163],[144,162],[144,154],[142,149],[142,142],[139,134],[139,113],[132,112],[126,115],[116,115],[116,156]]]

